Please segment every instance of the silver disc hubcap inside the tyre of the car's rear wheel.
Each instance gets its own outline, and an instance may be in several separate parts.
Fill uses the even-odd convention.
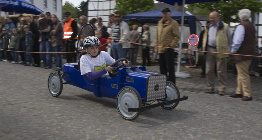
[[[48,80],[48,87],[52,95],[57,95],[59,93],[60,79],[55,73],[50,75]]]

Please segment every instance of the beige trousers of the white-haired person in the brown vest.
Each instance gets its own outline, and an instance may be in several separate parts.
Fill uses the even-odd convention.
[[[252,60],[236,62],[235,67],[237,70],[237,88],[236,93],[243,94],[244,96],[251,96],[251,83],[248,68]]]

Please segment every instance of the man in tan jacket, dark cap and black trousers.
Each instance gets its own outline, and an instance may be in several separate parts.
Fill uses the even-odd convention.
[[[171,11],[168,8],[162,10],[162,19],[158,21],[157,37],[156,37],[156,54],[159,53],[159,65],[161,74],[167,75],[168,80],[175,84],[175,68],[174,68],[174,49],[180,39],[179,24],[171,18]],[[170,47],[170,48],[164,48]]]

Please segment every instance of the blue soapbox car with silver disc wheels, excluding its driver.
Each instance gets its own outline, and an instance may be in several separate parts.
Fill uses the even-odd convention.
[[[127,62],[126,59],[119,59],[111,67],[119,61]],[[188,99],[187,96],[180,98],[177,86],[167,81],[166,75],[147,72],[144,66],[122,67],[120,64],[109,75],[113,78],[89,80],[81,75],[79,63],[66,63],[63,73],[50,73],[48,89],[53,97],[58,97],[62,93],[63,84],[71,84],[93,92],[96,97],[117,99],[118,112],[130,121],[135,120],[142,110],[158,106],[174,109],[179,101]]]

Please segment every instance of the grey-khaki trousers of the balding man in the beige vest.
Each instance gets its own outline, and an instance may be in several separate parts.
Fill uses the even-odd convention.
[[[217,52],[215,48],[207,46],[207,51]],[[218,90],[224,91],[227,84],[227,58],[218,58],[216,53],[207,52],[206,74],[208,89],[214,90],[215,64],[217,68]]]

